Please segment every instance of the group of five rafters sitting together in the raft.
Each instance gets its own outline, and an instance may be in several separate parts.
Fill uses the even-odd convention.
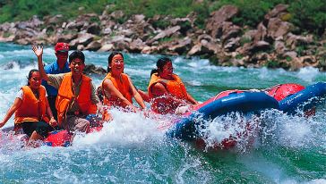
[[[183,105],[198,105],[173,73],[168,58],[159,59],[157,69],[150,73],[148,92],[143,92],[124,73],[124,55],[119,52],[108,56],[107,76],[95,88],[90,77],[82,73],[85,68],[82,51],[73,51],[68,58],[69,45],[59,42],[55,46],[56,62],[44,67],[43,47],[32,46],[32,50],[38,58],[39,70],[30,71],[27,85],[21,87],[4,120],[0,121],[1,128],[15,113],[14,129],[22,129],[30,137],[28,146],[47,138],[52,130],[87,132],[91,114],[100,112],[103,120],[109,121],[104,107],[138,111],[132,98],[142,110],[146,108],[145,100],[150,102],[153,112],[161,114],[175,113]]]

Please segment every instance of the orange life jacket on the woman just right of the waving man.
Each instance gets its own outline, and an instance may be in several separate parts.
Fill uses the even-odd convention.
[[[133,92],[132,89],[130,88],[130,82],[128,79],[128,76],[124,73],[121,74],[120,79],[116,79],[112,77],[111,73],[107,73],[107,76],[103,79],[102,81],[102,86],[103,82],[105,79],[109,79],[112,81],[113,85],[116,87],[116,89],[130,102],[133,103]],[[102,88],[103,91],[103,88]],[[103,91],[103,104],[107,106],[118,106],[118,107],[126,107],[126,105],[121,101],[120,98],[116,96],[106,96],[106,94]]]

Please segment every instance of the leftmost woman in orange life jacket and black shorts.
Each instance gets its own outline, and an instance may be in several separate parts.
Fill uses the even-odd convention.
[[[46,88],[40,84],[39,71],[31,70],[27,86],[21,88],[4,120],[0,121],[1,128],[15,113],[14,130],[22,128],[23,133],[30,137],[28,146],[36,146],[36,140],[47,138],[47,133],[55,130],[54,127],[57,126],[48,105]]]

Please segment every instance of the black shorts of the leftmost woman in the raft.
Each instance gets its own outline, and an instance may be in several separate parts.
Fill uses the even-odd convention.
[[[49,124],[47,124],[47,122],[44,121],[21,122],[21,128],[23,132],[27,134],[29,137],[31,136],[33,131],[36,131],[43,138],[47,138],[48,132],[54,130]]]

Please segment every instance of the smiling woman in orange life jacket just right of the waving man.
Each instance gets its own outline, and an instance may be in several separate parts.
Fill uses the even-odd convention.
[[[136,111],[132,98],[136,100],[142,109],[145,104],[142,96],[133,86],[132,79],[124,73],[124,55],[113,52],[107,58],[107,76],[101,84],[103,104],[107,106],[131,108]]]

